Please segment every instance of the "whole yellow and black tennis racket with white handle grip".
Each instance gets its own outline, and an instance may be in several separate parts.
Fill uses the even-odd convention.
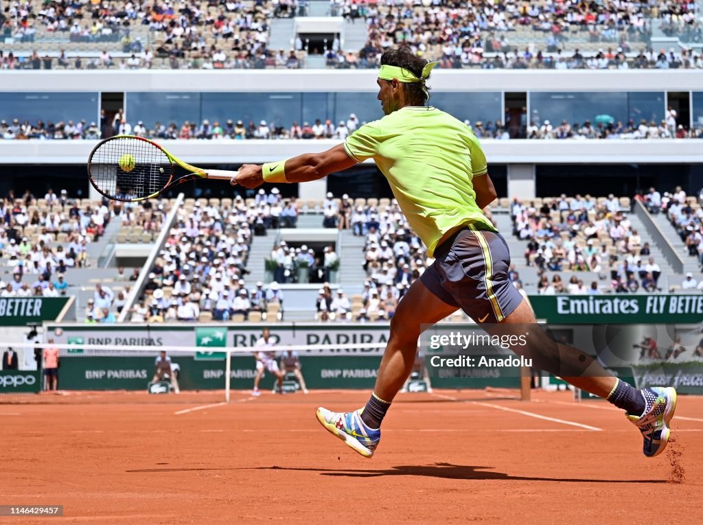
[[[176,166],[186,170],[186,174],[176,173]],[[131,135],[106,138],[93,148],[88,159],[93,188],[108,199],[126,202],[157,197],[195,179],[229,181],[237,173],[191,166],[148,138]]]

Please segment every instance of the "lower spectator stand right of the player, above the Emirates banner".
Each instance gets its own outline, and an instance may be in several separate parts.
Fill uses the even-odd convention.
[[[511,275],[511,280],[520,280],[521,287],[531,292],[534,283],[539,294],[680,290],[677,280],[681,276],[648,235],[645,223],[631,213],[629,197],[610,195],[596,200],[588,195],[562,195],[527,203],[501,201],[512,229],[509,245],[515,266],[512,272],[517,276]],[[494,216],[507,238],[506,214]],[[517,257],[521,249],[524,261]],[[569,276],[568,284],[562,273]]]

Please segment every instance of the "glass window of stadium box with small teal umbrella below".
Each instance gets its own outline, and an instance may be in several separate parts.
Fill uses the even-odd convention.
[[[553,91],[529,93],[530,122],[542,125],[548,120],[558,126],[562,120],[583,124],[590,120],[594,126],[603,122],[642,119],[657,122],[664,118],[665,96],[659,91]]]

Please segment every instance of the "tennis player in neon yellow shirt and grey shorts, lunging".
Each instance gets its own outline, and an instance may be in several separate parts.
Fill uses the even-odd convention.
[[[529,303],[508,280],[508,245],[482,212],[497,195],[477,138],[458,119],[426,105],[425,83],[435,65],[408,47],[388,49],[377,81],[385,117],[323,153],[245,165],[231,181],[246,188],[314,181],[373,158],[428,256],[435,258],[398,305],[366,406],[347,413],[317,410],[329,432],[366,458],[377,448],[383,417],[413,368],[424,328],[459,308],[491,335],[519,335],[536,323]],[[529,334],[527,346],[513,348],[517,354],[626,410],[643,435],[645,455],[662,453],[676,409],[673,388],[635,389],[542,330]]]

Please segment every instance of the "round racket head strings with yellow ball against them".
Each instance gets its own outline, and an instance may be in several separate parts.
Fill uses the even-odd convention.
[[[119,137],[93,151],[89,171],[93,185],[103,195],[116,200],[141,200],[169,183],[173,167],[156,145]]]

